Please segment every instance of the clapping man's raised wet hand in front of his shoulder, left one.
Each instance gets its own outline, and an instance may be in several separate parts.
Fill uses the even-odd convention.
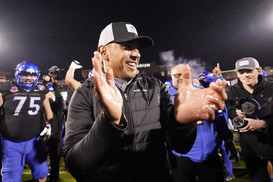
[[[123,99],[119,89],[115,85],[113,70],[107,67],[105,80],[102,73],[102,56],[98,51],[94,52],[92,63],[94,67],[93,79],[95,83],[94,89],[96,100],[100,103],[109,119],[114,123],[119,124]]]

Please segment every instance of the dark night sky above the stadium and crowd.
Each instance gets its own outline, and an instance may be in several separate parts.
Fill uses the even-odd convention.
[[[67,70],[74,59],[92,69],[100,32],[120,21],[153,39],[152,48],[140,50],[142,63],[198,60],[211,71],[219,62],[225,71],[254,57],[262,67],[273,66],[272,0],[0,0],[0,71],[14,74],[18,63],[32,61],[46,75],[51,66]],[[169,62],[160,56],[165,52]]]

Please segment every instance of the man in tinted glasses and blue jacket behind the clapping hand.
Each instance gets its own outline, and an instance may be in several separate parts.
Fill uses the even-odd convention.
[[[172,82],[168,88],[171,98],[181,87],[193,90],[203,87],[192,84],[191,68],[189,65],[179,64],[171,69]],[[206,96],[204,96],[206,97]],[[230,158],[235,157],[236,149],[233,145],[233,135],[226,123],[226,112],[215,111],[215,119],[197,121],[197,138],[187,154],[179,154],[171,150],[169,154],[173,181],[224,181],[218,149],[225,141],[226,152],[230,151]]]

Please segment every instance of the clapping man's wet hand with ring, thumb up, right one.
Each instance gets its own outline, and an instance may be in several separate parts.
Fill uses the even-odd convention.
[[[215,111],[224,109],[224,101],[228,98],[224,90],[225,80],[211,82],[208,88],[194,88],[191,84],[190,70],[183,71],[182,86],[174,98],[175,119],[179,123],[192,123],[198,120],[214,120]]]

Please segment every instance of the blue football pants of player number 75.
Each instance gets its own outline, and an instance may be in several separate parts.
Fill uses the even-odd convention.
[[[2,137],[2,181],[20,182],[25,162],[34,179],[48,175],[44,143],[40,137],[14,142]]]

